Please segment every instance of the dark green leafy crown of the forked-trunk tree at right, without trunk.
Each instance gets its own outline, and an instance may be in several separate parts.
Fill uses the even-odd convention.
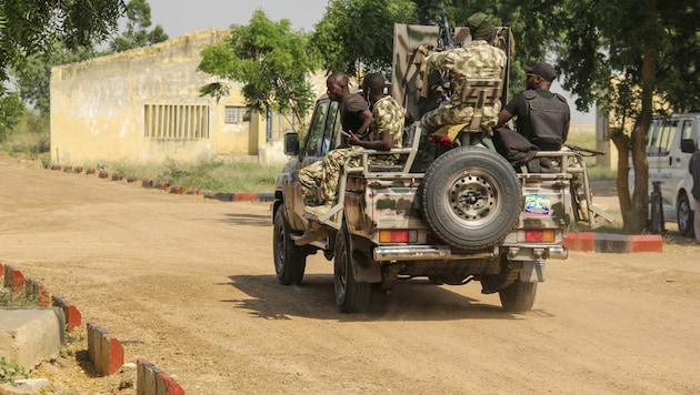
[[[563,87],[579,109],[601,101],[632,120],[647,94],[679,112],[700,109],[699,18],[700,7],[681,0],[564,1],[551,17],[563,37],[556,45]]]

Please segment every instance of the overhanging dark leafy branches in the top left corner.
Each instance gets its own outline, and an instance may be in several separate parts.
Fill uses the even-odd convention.
[[[123,0],[8,0],[0,3],[0,94],[11,69],[62,42],[68,49],[107,39],[118,28]]]

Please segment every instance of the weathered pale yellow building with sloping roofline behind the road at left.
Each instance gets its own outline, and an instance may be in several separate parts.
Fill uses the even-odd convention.
[[[53,68],[51,162],[198,162],[218,156],[283,162],[283,133],[299,126],[289,117],[244,117],[234,84],[219,102],[199,95],[202,85],[216,81],[197,71],[200,52],[228,34],[201,30]]]

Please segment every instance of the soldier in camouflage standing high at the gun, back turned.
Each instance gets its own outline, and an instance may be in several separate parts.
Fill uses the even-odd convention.
[[[429,68],[447,70],[452,78],[452,94],[449,101],[432,111],[428,111],[421,119],[421,128],[429,134],[450,124],[471,122],[473,108],[462,104],[462,89],[468,78],[503,78],[506,70],[506,52],[487,42],[493,26],[489,17],[482,12],[474,13],[467,19],[472,41],[462,48],[436,52],[426,58]],[[426,53],[424,47],[419,50]],[[500,110],[500,102],[493,108],[483,108],[482,123],[494,125]]]

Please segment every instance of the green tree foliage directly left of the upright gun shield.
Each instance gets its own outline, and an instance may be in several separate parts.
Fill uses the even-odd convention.
[[[330,0],[311,42],[326,70],[388,75],[393,24],[417,20],[416,4],[409,0]]]

